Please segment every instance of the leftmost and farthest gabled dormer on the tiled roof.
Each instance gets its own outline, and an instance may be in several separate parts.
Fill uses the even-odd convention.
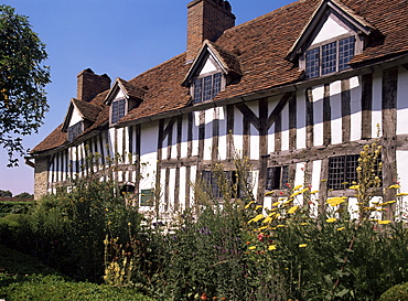
[[[71,99],[62,131],[67,132],[68,141],[74,141],[97,119],[101,108],[87,101]]]

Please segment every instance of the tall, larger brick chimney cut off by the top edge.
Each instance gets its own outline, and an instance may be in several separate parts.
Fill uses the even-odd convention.
[[[235,14],[225,0],[194,0],[187,4],[186,62],[195,58],[204,40],[216,41],[235,26]]]

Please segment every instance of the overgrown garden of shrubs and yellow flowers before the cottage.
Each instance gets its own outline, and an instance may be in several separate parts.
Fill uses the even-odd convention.
[[[375,143],[361,152],[354,205],[346,197],[320,204],[304,183],[269,192],[276,202],[264,208],[246,159],[235,160],[234,184],[214,165],[222,200],[198,181],[194,205],[171,219],[128,206],[131,196],[114,181],[73,180],[0,218],[0,244],[12,249],[1,251],[39,260],[22,265],[26,271],[1,256],[0,298],[61,300],[36,297],[54,291],[73,294],[66,300],[408,300],[407,193],[396,183],[383,187],[395,201],[373,198],[379,155]],[[382,218],[390,209],[395,216]]]

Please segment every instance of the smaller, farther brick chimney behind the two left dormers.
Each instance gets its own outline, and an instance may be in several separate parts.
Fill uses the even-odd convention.
[[[106,74],[97,75],[90,68],[77,75],[76,98],[84,101],[92,100],[99,93],[110,88],[110,77]]]

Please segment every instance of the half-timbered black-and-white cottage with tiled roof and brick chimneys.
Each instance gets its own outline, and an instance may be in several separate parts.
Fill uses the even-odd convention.
[[[35,197],[86,174],[89,153],[101,165],[119,154],[116,180],[147,209],[157,187],[162,212],[191,206],[191,183],[211,183],[215,161],[233,171],[236,154],[266,206],[287,183],[309,183],[319,202],[352,197],[374,139],[383,186],[408,189],[407,0],[301,0],[240,25],[228,1],[194,0],[185,53],[130,80],[92,69],[77,80],[62,125],[33,149]]]

